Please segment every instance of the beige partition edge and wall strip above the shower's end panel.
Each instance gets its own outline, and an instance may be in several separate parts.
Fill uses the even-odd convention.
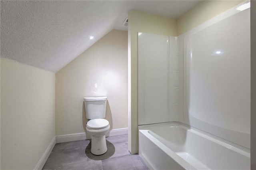
[[[129,151],[138,153],[138,32],[176,36],[176,21],[131,10],[128,13],[128,63],[129,67]]]

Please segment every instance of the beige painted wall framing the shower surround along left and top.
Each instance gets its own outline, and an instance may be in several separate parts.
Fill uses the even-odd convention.
[[[241,2],[242,1],[202,1],[178,18],[176,22],[168,20],[168,18],[134,10],[129,12],[128,64],[130,66],[128,67],[128,81],[130,82],[128,84],[131,86],[128,88],[128,95],[131,95],[128,100],[128,113],[130,122],[129,150],[131,153],[138,153],[138,32],[179,36]],[[182,117],[183,116],[180,118]]]

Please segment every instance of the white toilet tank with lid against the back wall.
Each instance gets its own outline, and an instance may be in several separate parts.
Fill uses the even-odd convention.
[[[107,97],[84,97],[87,119],[103,119],[106,116]]]

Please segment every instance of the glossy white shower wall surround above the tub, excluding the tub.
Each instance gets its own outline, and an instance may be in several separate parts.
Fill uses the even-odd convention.
[[[178,37],[138,33],[138,125],[180,121],[250,148],[250,10],[237,7]]]

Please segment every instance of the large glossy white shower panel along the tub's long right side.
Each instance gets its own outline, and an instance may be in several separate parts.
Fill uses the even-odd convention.
[[[250,9],[235,13],[184,35],[184,121],[250,148]]]

